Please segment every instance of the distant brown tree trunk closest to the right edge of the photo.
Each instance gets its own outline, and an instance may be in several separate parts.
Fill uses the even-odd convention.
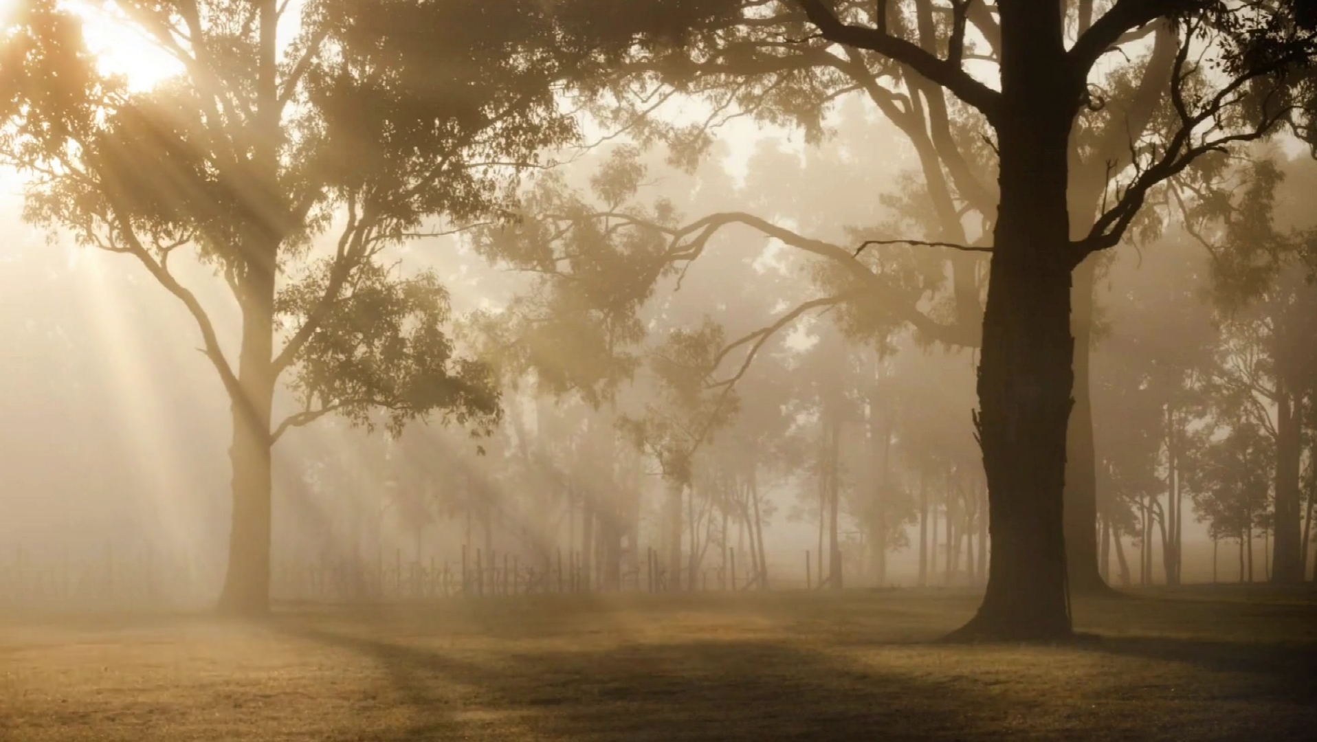
[[[1299,471],[1303,459],[1303,438],[1295,396],[1284,384],[1277,384],[1276,400],[1276,538],[1272,542],[1271,581],[1301,583],[1304,556],[1301,543],[1301,510]]]

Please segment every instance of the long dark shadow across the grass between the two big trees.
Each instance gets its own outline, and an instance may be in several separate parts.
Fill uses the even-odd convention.
[[[698,641],[500,653],[490,662],[299,625],[291,635],[369,656],[414,717],[373,739],[618,742],[975,739],[985,699],[780,642]]]

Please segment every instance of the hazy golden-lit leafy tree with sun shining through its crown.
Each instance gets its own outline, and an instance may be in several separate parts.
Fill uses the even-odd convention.
[[[180,75],[130,93],[84,59],[59,78],[76,95],[20,87],[4,151],[33,176],[30,218],[133,257],[196,321],[233,418],[220,606],[262,613],[271,449],[287,429],[329,413],[370,426],[379,408],[395,429],[497,418],[489,370],[445,334],[443,287],[399,272],[390,250],[437,217],[498,212],[500,187],[574,134],[552,83],[577,66],[532,1],[317,0],[294,24],[275,0],[115,5]],[[68,24],[30,33],[20,67],[75,46]],[[238,309],[236,357],[184,285],[188,250]],[[281,378],[298,403],[282,421]]]

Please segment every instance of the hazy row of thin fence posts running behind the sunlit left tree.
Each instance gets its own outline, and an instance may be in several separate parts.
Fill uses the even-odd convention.
[[[270,595],[282,601],[379,603],[531,593],[666,592],[766,589],[757,570],[736,567],[736,550],[722,563],[689,562],[672,575],[652,547],[620,559],[606,576],[603,564],[582,553],[557,549],[545,558],[462,547],[453,559],[417,559],[400,549],[373,556],[279,558],[271,566]],[[0,551],[0,606],[182,608],[213,601],[224,564],[186,551],[115,549],[79,556]],[[789,581],[794,583],[805,580]]]

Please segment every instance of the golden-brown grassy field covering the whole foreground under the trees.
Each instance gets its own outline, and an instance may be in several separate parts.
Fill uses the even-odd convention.
[[[1317,593],[1079,603],[934,643],[956,592],[515,597],[0,618],[0,739],[1314,739]]]

